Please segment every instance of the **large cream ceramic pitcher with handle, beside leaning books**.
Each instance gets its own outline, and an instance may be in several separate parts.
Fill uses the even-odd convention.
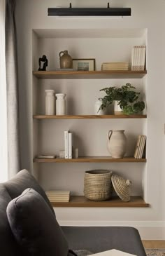
[[[107,147],[114,159],[122,159],[126,153],[127,138],[124,130],[109,130]]]

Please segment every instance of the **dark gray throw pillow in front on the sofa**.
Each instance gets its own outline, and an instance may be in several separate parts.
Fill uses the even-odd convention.
[[[26,189],[8,203],[8,222],[24,255],[66,256],[69,246],[43,197]]]

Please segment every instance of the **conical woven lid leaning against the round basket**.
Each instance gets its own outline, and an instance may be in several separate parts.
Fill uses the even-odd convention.
[[[118,175],[112,175],[112,182],[115,192],[122,199],[122,201],[130,201],[131,181],[125,180],[123,177],[120,177]]]

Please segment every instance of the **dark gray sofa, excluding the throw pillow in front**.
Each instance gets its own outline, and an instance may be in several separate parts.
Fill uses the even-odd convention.
[[[27,170],[20,171],[12,180],[0,184],[0,254],[2,256],[23,255],[10,230],[6,208],[13,198],[29,187],[43,196],[54,214],[45,192]],[[145,256],[141,237],[133,227],[62,227],[62,230],[72,250],[85,249],[96,253],[115,248],[137,256]]]

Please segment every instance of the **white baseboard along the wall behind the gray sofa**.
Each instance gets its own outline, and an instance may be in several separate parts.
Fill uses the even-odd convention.
[[[72,227],[135,227],[138,229],[142,240],[165,240],[165,222],[124,222],[124,221],[60,221],[61,226],[72,226]]]

